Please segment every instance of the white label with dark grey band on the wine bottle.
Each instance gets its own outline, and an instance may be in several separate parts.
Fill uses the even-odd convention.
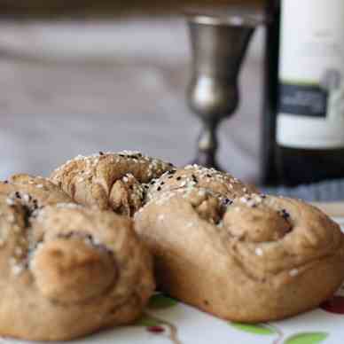
[[[278,145],[344,147],[344,1],[282,0]]]

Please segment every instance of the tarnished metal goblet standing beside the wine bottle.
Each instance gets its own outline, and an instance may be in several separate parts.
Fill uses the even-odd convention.
[[[203,124],[194,163],[221,169],[216,162],[217,129],[238,106],[238,73],[262,16],[238,10],[187,13],[187,22],[192,43],[192,79],[187,99]]]

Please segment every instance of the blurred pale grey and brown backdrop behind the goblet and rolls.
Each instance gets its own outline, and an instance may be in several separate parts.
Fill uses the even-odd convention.
[[[186,8],[259,0],[0,0],[0,178],[47,175],[77,154],[139,150],[177,165],[196,152],[185,90]],[[218,160],[259,176],[263,27],[240,74],[241,103],[219,130]]]

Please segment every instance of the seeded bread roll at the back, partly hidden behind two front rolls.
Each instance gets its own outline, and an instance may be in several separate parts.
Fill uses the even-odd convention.
[[[140,152],[77,156],[51,174],[77,203],[121,215],[133,215],[145,200],[148,184],[173,165]]]

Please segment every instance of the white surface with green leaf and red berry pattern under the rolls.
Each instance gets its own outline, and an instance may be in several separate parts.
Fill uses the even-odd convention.
[[[344,218],[335,218],[344,229]],[[0,344],[28,344],[0,338]],[[56,342],[55,342],[56,343]],[[343,344],[344,285],[321,307],[283,321],[238,324],[155,294],[136,324],[103,331],[71,343],[81,344]]]

